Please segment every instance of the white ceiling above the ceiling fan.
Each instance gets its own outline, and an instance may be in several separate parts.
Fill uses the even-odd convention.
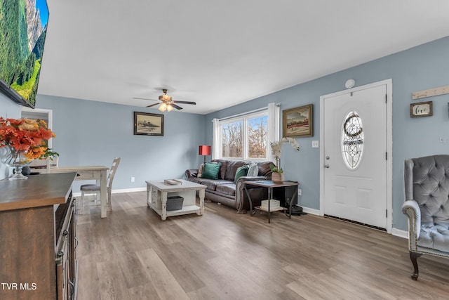
[[[47,3],[39,94],[198,114],[449,35],[447,0]]]

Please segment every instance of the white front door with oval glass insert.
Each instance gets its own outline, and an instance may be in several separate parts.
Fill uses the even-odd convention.
[[[387,228],[387,86],[324,98],[324,214]]]

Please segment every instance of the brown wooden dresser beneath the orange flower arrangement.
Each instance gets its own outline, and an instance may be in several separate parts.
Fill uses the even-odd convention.
[[[0,299],[76,299],[75,176],[0,181]]]

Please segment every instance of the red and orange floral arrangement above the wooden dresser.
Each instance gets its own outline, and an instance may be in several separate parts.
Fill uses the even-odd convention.
[[[48,148],[48,140],[55,137],[43,120],[0,117],[0,148],[22,152],[29,160],[58,156]]]

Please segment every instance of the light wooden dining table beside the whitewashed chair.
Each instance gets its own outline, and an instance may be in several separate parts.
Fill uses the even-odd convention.
[[[75,180],[95,180],[100,185],[101,217],[107,217],[107,211],[112,211],[111,202],[107,200],[107,170],[105,166],[76,166],[76,167],[52,167],[50,173],[76,172]]]

